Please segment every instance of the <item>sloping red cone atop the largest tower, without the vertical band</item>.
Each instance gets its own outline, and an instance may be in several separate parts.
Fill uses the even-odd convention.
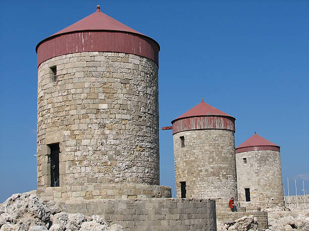
[[[110,16],[102,13],[100,11],[100,7],[97,6],[97,10],[93,14],[87,16],[86,18],[83,18],[82,20],[72,24],[71,26],[66,27],[65,29],[57,32],[56,34],[53,34],[52,36],[75,31],[89,30],[124,31],[143,35],[138,31],[133,30],[132,28],[122,24],[116,19],[113,19]]]

